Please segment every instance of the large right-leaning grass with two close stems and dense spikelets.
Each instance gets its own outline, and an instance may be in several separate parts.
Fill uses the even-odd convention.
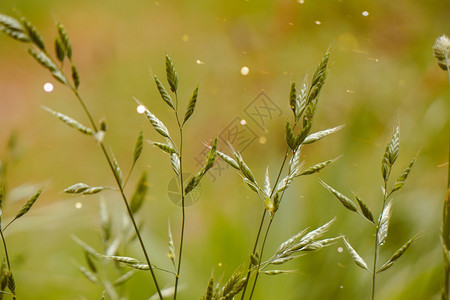
[[[301,150],[304,145],[314,143],[322,139],[323,137],[333,132],[336,132],[342,128],[342,126],[338,126],[323,131],[319,131],[316,133],[310,133],[317,104],[319,102],[320,91],[325,83],[325,78],[328,71],[329,58],[330,52],[327,51],[324,57],[322,58],[319,66],[317,67],[316,71],[314,72],[310,85],[304,83],[302,85],[300,92],[297,92],[295,82],[291,83],[289,94],[289,105],[290,108],[292,109],[294,118],[292,121],[292,125],[290,122],[287,122],[286,124],[286,131],[285,131],[285,138],[287,144],[286,151],[283,156],[283,161],[277,172],[277,176],[273,185],[271,185],[270,183],[270,173],[269,168],[267,168],[264,185],[260,186],[256,181],[253,172],[244,162],[241,154],[237,152],[235,149],[233,149],[231,145],[230,149],[233,157],[230,157],[222,152],[217,152],[220,158],[222,158],[231,167],[238,170],[240,176],[243,178],[244,184],[251,190],[253,190],[263,203],[263,214],[258,226],[258,231],[256,234],[253,250],[250,255],[250,263],[248,265],[246,275],[245,277],[242,278],[242,280],[240,281],[241,284],[239,285],[240,289],[242,289],[241,299],[245,299],[245,295],[248,290],[248,284],[251,281],[251,276],[253,273],[255,273],[255,278],[251,285],[251,292],[248,299],[253,298],[258,278],[261,273],[274,275],[289,272],[286,270],[263,271],[263,268],[273,263],[273,261],[271,261],[270,259],[264,262],[263,257],[270,228],[273,224],[276,212],[278,211],[279,205],[284,197],[286,189],[291,185],[291,183],[295,178],[303,175],[314,174],[333,161],[328,160],[316,164],[306,170],[302,170],[303,163],[300,162]],[[286,175],[284,178],[282,178],[284,173]],[[265,220],[267,217],[269,218],[269,220],[267,224],[265,224]],[[331,223],[332,222],[327,223],[328,225],[326,226],[326,228],[328,228],[328,226],[331,225]],[[300,238],[300,236],[301,234],[298,234],[294,236],[290,242],[288,242],[289,241],[288,240],[285,243],[288,243],[290,245],[293,243],[295,239]],[[315,238],[318,238],[318,236],[315,236]],[[319,246],[317,247],[318,250],[319,248],[322,248],[325,245],[329,245],[332,241],[334,241],[334,239],[326,240],[326,242],[325,240],[314,242],[316,243],[316,245],[320,245],[320,247]],[[274,264],[281,264],[293,258],[296,258],[298,257],[297,255],[299,254],[300,251],[306,251],[308,247],[310,248],[312,247],[310,244],[313,243],[312,239],[307,240],[307,242],[305,241],[303,242],[304,244],[299,243],[286,253],[283,252],[286,250],[283,247],[278,249],[278,252],[271,258],[275,261]],[[279,257],[280,255],[281,257]],[[208,299],[208,297],[206,297],[206,299]]]

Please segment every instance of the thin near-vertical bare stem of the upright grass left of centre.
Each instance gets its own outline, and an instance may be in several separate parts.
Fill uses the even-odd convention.
[[[183,178],[183,125],[180,123],[180,118],[178,117],[178,94],[175,93],[175,116],[177,119],[178,128],[180,130],[180,147],[179,147],[179,159],[180,159],[180,189],[181,189],[181,233],[180,233],[180,250],[178,251],[178,265],[177,265],[177,273],[175,275],[175,287],[173,300],[177,299],[178,293],[178,282],[180,279],[180,271],[181,271],[181,261],[183,256],[183,242],[184,242],[184,227],[186,221],[186,207],[185,207],[185,193],[184,193],[184,178]]]

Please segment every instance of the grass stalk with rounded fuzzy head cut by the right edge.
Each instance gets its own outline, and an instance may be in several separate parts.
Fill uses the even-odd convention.
[[[434,56],[439,67],[447,71],[450,86],[450,40],[446,35],[437,38],[433,45]],[[449,138],[449,161],[447,175],[447,192],[445,194],[443,219],[442,219],[442,248],[444,254],[444,284],[441,299],[450,299],[450,138]]]

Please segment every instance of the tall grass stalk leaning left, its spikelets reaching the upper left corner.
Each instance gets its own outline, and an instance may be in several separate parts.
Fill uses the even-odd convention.
[[[134,229],[135,229],[136,236],[139,240],[140,247],[144,254],[145,260],[149,266],[153,284],[159,294],[160,299],[162,299],[163,297],[161,294],[161,290],[159,288],[158,281],[156,279],[156,275],[154,273],[153,267],[150,263],[150,257],[145,248],[145,244],[142,240],[141,234],[139,232],[139,228],[136,224],[135,218],[132,214],[129,202],[127,200],[127,197],[126,197],[124,189],[123,189],[122,172],[119,168],[117,161],[113,158],[112,153],[108,152],[108,150],[106,149],[105,144],[103,142],[103,138],[106,133],[107,126],[104,122],[100,122],[100,125],[97,126],[90,110],[88,109],[85,101],[82,99],[82,97],[79,93],[79,90],[78,90],[78,88],[80,86],[80,76],[79,76],[78,70],[75,66],[75,63],[72,59],[72,45],[71,45],[69,36],[67,35],[64,27],[61,24],[57,23],[56,27],[57,27],[58,35],[55,38],[54,49],[55,49],[55,55],[56,55],[57,61],[55,61],[54,59],[51,58],[50,54],[47,52],[47,46],[45,45],[41,34],[28,20],[26,20],[23,17],[20,20],[17,20],[11,16],[0,14],[0,30],[15,40],[30,44],[31,47],[28,49],[28,53],[42,67],[47,69],[57,81],[59,81],[60,83],[62,83],[65,86],[67,86],[72,91],[72,93],[75,95],[75,98],[77,99],[78,103],[81,105],[85,115],[89,119],[89,122],[90,122],[90,125],[92,128],[85,127],[78,121],[76,121],[64,114],[51,111],[55,116],[57,116],[61,121],[68,124],[69,126],[78,129],[80,132],[82,132],[84,134],[93,136],[95,138],[95,140],[97,141],[98,145],[100,146],[100,149],[107,161],[108,166],[111,169],[114,180],[117,184],[120,195],[123,199],[123,203],[125,205],[127,214],[130,218],[130,221],[131,221]],[[71,71],[70,79],[63,70],[63,66],[64,66],[65,62],[68,62],[70,64],[70,71]],[[75,186],[77,186],[77,185],[75,185]],[[70,188],[69,188],[69,190],[70,190]],[[97,193],[101,190],[102,190],[102,188],[98,188],[98,187],[91,188],[91,187],[82,186],[81,189],[72,189],[72,192],[75,191],[75,193],[89,194],[89,193],[94,193],[94,192]]]

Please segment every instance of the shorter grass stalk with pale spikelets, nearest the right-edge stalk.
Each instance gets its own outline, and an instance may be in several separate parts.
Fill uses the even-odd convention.
[[[378,258],[381,247],[385,244],[386,238],[388,235],[389,223],[391,219],[392,213],[392,205],[393,200],[390,199],[392,194],[403,188],[405,184],[405,180],[407,179],[411,168],[413,167],[416,157],[414,157],[408,164],[408,166],[403,170],[403,172],[397,177],[393,186],[390,187],[388,185],[388,181],[391,175],[392,166],[394,165],[397,157],[399,155],[400,150],[400,133],[398,127],[395,129],[394,135],[390,142],[386,146],[386,150],[384,152],[384,156],[381,162],[381,174],[383,177],[383,185],[381,187],[383,192],[383,199],[381,205],[381,212],[377,219],[374,218],[372,210],[369,206],[361,200],[358,196],[355,196],[355,200],[358,202],[358,206],[347,196],[341,194],[331,186],[327,185],[325,182],[321,181],[322,185],[331,192],[341,203],[342,205],[352,211],[360,215],[364,220],[368,221],[374,228],[375,239],[374,239],[374,247],[373,247],[373,266],[372,269],[369,269],[365,260],[353,249],[348,239],[344,238],[345,246],[352,256],[353,261],[356,265],[365,271],[369,272],[372,277],[372,288],[371,288],[371,299],[375,299],[375,291],[376,291],[376,278],[377,275],[383,271],[389,269],[411,246],[413,242],[415,242],[418,238],[418,235],[415,235],[411,239],[409,239],[402,247],[400,247],[391,258],[386,261],[381,267],[378,267]],[[359,207],[359,209],[358,209]]]

